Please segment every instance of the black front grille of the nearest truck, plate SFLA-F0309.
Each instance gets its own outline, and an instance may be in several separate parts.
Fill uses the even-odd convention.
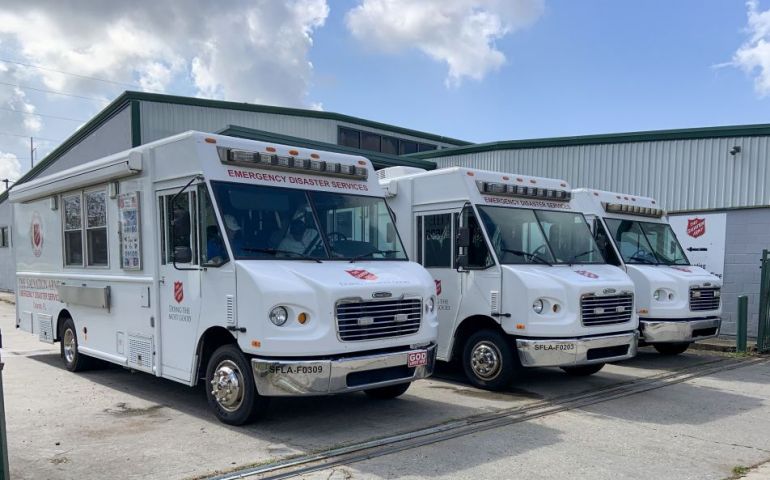
[[[342,300],[337,303],[336,318],[343,342],[411,335],[420,330],[422,300]]]

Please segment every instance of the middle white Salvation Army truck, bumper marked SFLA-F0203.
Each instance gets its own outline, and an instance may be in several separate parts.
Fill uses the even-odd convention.
[[[634,285],[607,265],[566,182],[466,168],[378,172],[407,251],[433,275],[438,358],[470,381],[521,367],[590,375],[636,354]]]

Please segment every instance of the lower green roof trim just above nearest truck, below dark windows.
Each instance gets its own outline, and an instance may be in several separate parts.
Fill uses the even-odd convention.
[[[366,157],[374,164],[375,168],[394,167],[397,165],[405,165],[408,167],[424,168],[426,170],[434,170],[436,164],[428,160],[421,160],[417,158],[406,158],[398,155],[391,155],[388,153],[371,152],[369,150],[362,150],[360,148],[346,147],[344,145],[336,145],[333,143],[319,142],[317,140],[308,140],[306,138],[292,137],[289,135],[283,135],[280,133],[266,132],[264,130],[256,130],[253,128],[241,127],[238,125],[228,125],[226,128],[216,132],[220,135],[227,135],[230,137],[247,138],[249,140],[260,140],[263,142],[274,142],[282,145],[312,148],[316,150],[323,150],[328,152],[346,153],[349,155],[360,155]]]

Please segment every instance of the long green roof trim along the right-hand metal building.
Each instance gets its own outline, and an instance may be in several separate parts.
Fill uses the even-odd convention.
[[[666,140],[694,140],[699,138],[770,136],[770,124],[735,125],[725,127],[682,128],[677,130],[649,130],[644,132],[608,133],[575,137],[536,138],[502,142],[476,143],[463,147],[445,148],[430,152],[411,153],[411,158],[437,158],[466,153],[518,150],[525,148],[601,145],[607,143],[654,142]]]

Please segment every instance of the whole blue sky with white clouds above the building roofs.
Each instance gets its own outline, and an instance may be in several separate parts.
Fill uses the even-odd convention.
[[[770,123],[770,0],[194,1],[0,5],[0,178],[125,89],[473,142]]]

